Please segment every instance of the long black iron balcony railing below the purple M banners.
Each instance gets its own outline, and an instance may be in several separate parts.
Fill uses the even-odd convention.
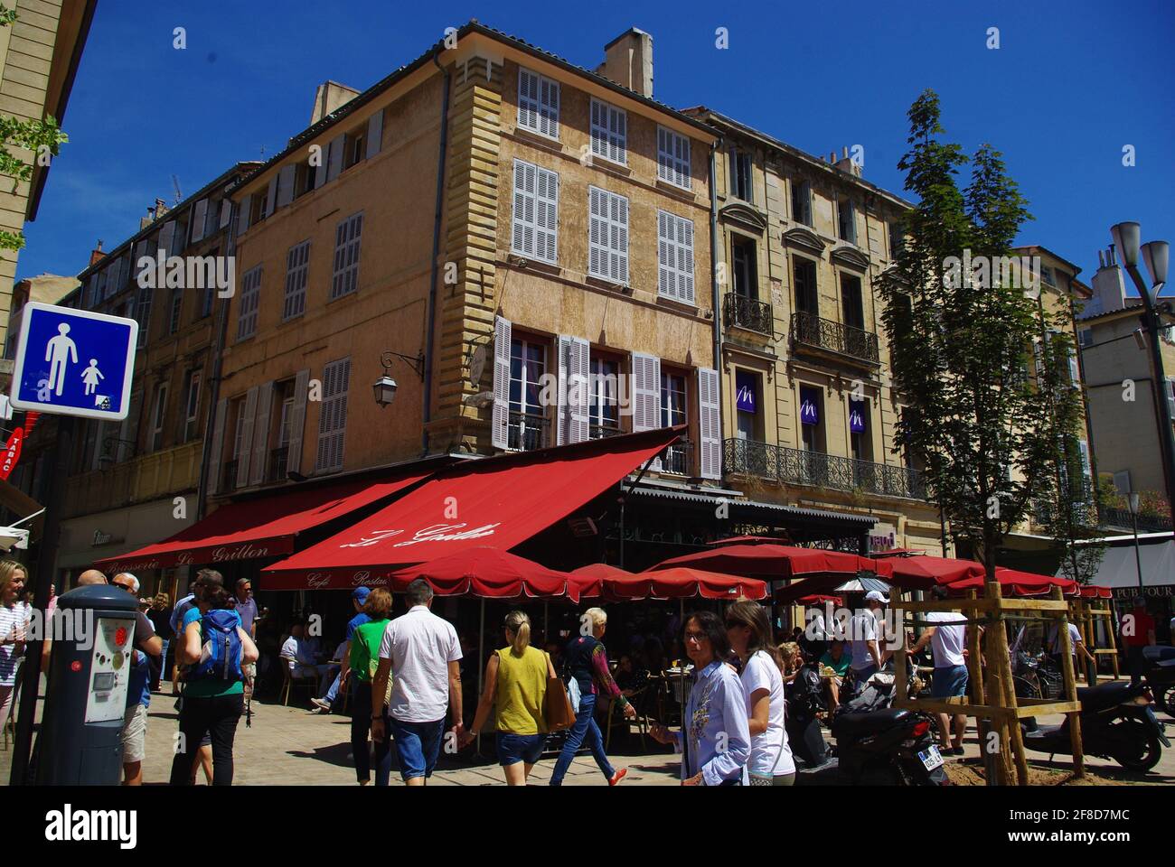
[[[884,497],[926,499],[926,482],[918,470],[788,449],[753,439],[726,439],[723,468],[727,475],[758,476],[779,484],[813,485],[840,491],[861,490]]]

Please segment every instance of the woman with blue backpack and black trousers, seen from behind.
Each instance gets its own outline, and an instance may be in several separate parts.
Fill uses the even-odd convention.
[[[175,658],[188,666],[180,708],[180,744],[172,762],[172,785],[192,785],[192,762],[200,741],[213,741],[213,785],[233,785],[233,739],[244,712],[243,667],[257,661],[257,646],[241,629],[235,597],[220,572],[202,569],[194,584],[195,605],[184,614]]]

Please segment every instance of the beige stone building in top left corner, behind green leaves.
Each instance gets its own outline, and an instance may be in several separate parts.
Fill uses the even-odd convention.
[[[0,27],[0,115],[53,116],[60,123],[98,0],[8,0],[5,6],[15,11],[16,20]],[[33,166],[31,181],[0,193],[0,229],[16,233],[36,219],[51,166],[39,164],[28,150],[11,150]],[[0,253],[0,342],[6,336],[16,255]]]

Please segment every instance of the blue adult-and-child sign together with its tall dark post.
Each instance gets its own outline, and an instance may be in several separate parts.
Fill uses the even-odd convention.
[[[89,310],[29,302],[24,308],[12,377],[12,406],[29,414],[61,416],[49,462],[49,496],[36,567],[33,606],[45,612],[56,574],[58,537],[66,473],[73,445],[73,419],[121,422],[130,405],[139,323]],[[42,623],[43,623],[42,618]],[[28,781],[33,719],[41,679],[43,634],[29,641],[16,714],[9,785]],[[79,684],[85,688],[85,684]]]

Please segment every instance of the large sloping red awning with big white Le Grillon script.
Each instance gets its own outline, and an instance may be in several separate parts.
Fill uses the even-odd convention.
[[[508,551],[598,497],[684,428],[448,468],[370,518],[262,570],[267,589],[350,587],[462,549]]]

